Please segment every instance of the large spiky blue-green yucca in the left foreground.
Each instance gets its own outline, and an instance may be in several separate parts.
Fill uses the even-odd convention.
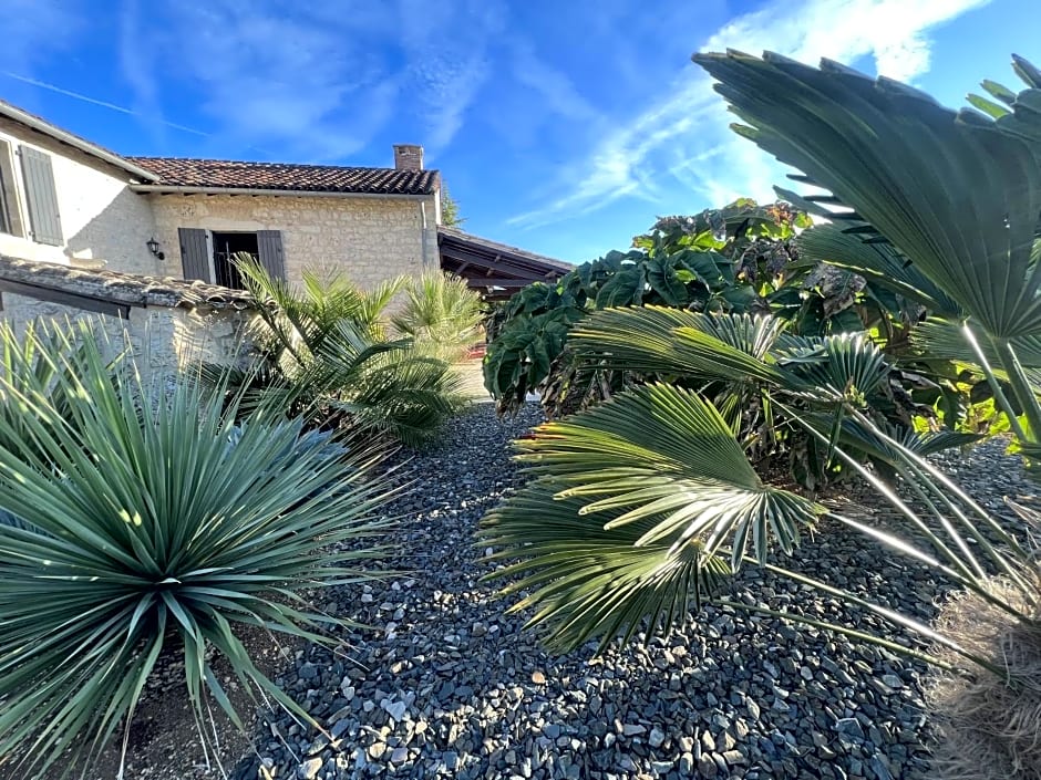
[[[0,330],[8,353],[12,335]],[[308,594],[365,578],[377,549],[357,540],[386,524],[375,456],[264,405],[237,425],[234,402],[221,409],[197,384],[113,367],[100,327],[25,339],[32,360],[0,375],[18,409],[0,414],[0,511],[18,521],[0,523],[0,773],[85,773],[120,730],[125,757],[142,690],[172,654],[200,735],[214,703],[246,728],[214,654],[255,701],[309,720],[239,630],[333,641],[343,621]]]

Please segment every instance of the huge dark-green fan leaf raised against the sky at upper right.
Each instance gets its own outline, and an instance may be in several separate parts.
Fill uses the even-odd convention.
[[[1041,404],[1019,342],[1041,333],[1041,73],[1014,58],[1025,90],[987,82],[997,102],[973,96],[982,111],[955,112],[829,61],[816,69],[739,52],[694,61],[719,81],[741,135],[827,190],[782,190],[832,220],[800,238],[804,257],[888,284],[960,330],[961,356],[988,376],[1024,450],[1041,454]]]

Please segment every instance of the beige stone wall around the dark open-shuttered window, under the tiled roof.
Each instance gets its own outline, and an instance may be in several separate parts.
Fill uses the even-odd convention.
[[[342,273],[371,288],[439,266],[435,196],[420,200],[153,194],[148,198],[156,238],[166,253],[161,275],[183,275],[178,228],[280,230],[291,282],[312,268]]]

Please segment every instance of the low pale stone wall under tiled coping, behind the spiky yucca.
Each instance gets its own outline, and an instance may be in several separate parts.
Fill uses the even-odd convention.
[[[133,350],[143,375],[165,379],[192,372],[199,361],[243,365],[252,346],[248,330],[255,314],[236,309],[132,308],[130,320],[84,311],[34,298],[3,293],[3,320],[17,333],[43,320],[64,323],[89,320],[107,339],[106,352]]]

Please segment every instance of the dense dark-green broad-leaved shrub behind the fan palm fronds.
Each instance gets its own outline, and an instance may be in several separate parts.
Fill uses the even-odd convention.
[[[803,211],[784,202],[742,199],[697,217],[660,219],[628,252],[516,293],[492,323],[484,367],[499,410],[515,410],[539,393],[547,413],[558,416],[621,389],[631,377],[579,367],[567,350],[571,327],[608,306],[770,313],[796,335],[876,327],[884,337],[903,337],[917,312],[899,297],[853,273],[800,261],[794,238],[808,225]]]

